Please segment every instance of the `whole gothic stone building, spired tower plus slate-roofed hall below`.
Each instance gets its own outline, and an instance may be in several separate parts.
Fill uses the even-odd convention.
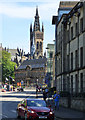
[[[34,26],[30,25],[30,53],[25,55],[26,60],[23,60],[19,67],[15,70],[15,80],[17,82],[24,82],[24,85],[42,84],[46,75],[47,59],[46,54],[43,56],[43,40],[44,40],[44,26],[40,29],[40,21],[38,8],[36,8],[36,15]]]

